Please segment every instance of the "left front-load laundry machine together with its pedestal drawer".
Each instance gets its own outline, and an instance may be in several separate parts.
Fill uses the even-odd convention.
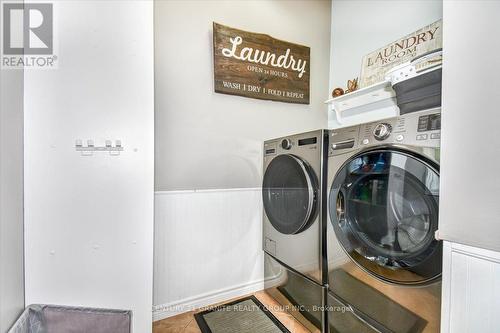
[[[266,141],[262,183],[266,291],[318,330],[326,327],[327,140],[318,130]]]

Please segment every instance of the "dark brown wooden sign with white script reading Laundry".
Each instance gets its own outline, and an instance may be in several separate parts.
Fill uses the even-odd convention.
[[[310,48],[213,23],[215,92],[309,104]]]

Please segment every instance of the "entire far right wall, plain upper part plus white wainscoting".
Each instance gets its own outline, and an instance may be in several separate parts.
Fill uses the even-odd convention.
[[[443,333],[500,328],[500,40],[492,38],[500,31],[498,13],[498,1],[444,2]]]

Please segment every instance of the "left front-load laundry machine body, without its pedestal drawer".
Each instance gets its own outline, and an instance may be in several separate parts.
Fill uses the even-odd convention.
[[[319,284],[326,282],[325,136],[319,130],[266,141],[262,182],[264,251]]]

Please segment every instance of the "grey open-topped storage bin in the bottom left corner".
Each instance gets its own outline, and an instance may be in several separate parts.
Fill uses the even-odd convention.
[[[132,312],[30,305],[8,333],[130,333]]]

